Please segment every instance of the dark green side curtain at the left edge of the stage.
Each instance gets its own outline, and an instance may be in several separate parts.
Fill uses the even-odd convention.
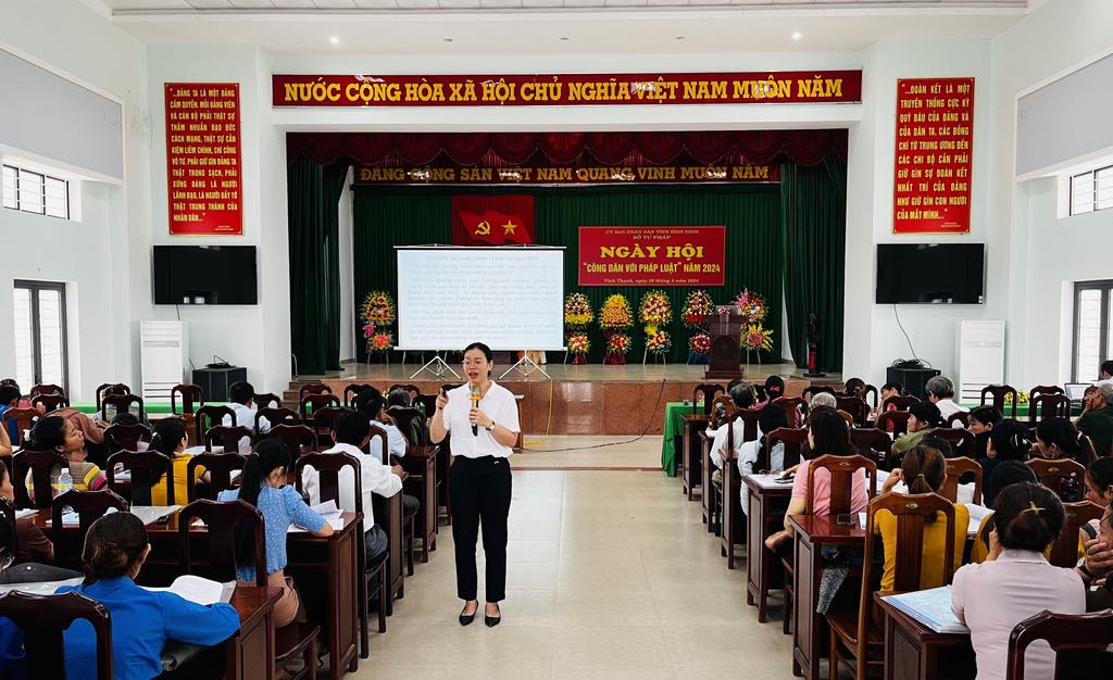
[[[298,156],[287,170],[290,352],[299,375],[341,367],[338,203],[347,161]]]

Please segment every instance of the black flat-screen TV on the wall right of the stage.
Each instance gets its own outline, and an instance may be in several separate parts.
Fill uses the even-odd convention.
[[[985,244],[878,244],[877,304],[979,305]]]

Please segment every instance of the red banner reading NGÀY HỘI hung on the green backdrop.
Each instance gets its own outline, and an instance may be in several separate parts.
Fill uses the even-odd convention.
[[[721,286],[727,227],[580,227],[581,286]]]

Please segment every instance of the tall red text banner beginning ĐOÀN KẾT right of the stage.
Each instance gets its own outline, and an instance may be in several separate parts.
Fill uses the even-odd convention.
[[[968,234],[973,78],[897,80],[894,234]]]

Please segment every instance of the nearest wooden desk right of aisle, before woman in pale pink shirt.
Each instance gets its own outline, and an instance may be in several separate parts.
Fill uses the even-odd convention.
[[[977,660],[967,633],[937,633],[875,593],[885,614],[885,680],[974,680]]]

